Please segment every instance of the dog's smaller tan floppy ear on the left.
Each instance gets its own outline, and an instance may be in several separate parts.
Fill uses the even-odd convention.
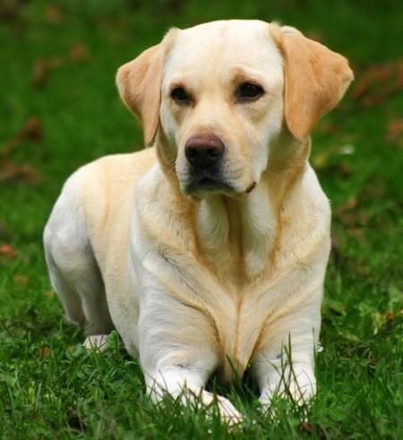
[[[159,127],[163,57],[160,44],[150,47],[116,73],[119,94],[141,121],[146,145],[154,142]]]

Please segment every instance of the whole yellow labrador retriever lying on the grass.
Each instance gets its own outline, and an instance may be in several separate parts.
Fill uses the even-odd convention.
[[[259,21],[170,30],[118,70],[152,148],[76,171],[45,250],[85,344],[115,327],[155,401],[209,404],[214,371],[227,381],[248,366],[263,405],[315,393],[330,206],[309,134],[352,79],[343,56]],[[223,419],[241,419],[217,399]]]

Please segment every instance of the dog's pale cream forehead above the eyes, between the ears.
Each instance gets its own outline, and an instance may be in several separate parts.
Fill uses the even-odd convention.
[[[167,56],[165,72],[214,74],[244,67],[255,72],[282,72],[278,47],[270,38],[269,24],[254,20],[204,23],[179,30]]]

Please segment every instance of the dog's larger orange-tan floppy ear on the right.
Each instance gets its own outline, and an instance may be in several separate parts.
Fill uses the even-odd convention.
[[[270,34],[284,58],[287,127],[302,141],[339,102],[354,75],[344,56],[295,28],[270,24]]]

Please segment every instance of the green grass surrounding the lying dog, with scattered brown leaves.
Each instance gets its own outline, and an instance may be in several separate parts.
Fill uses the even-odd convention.
[[[225,17],[299,27],[346,55],[364,87],[313,134],[313,166],[333,209],[319,393],[309,408],[277,401],[262,414],[249,379],[229,390],[213,383],[245,414],[231,432],[175,401],[154,407],[116,334],[103,355],[81,349],[81,331],[64,323],[50,291],[41,246],[65,178],[141,146],[117,97],[117,66],[169,26]],[[401,22],[392,0],[0,5],[1,439],[403,438],[403,94],[390,89],[403,75]],[[380,68],[383,80],[371,79]],[[29,133],[10,142],[32,117]]]

